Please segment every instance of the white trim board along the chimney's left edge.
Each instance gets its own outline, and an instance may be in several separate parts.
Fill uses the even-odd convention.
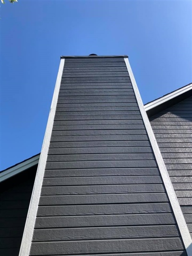
[[[36,221],[36,213],[37,213],[38,202],[39,202],[39,197],[41,193],[41,186],[43,182],[47,156],[48,156],[48,147],[50,143],[53,121],[55,117],[55,111],[57,106],[59,90],[60,90],[60,83],[61,83],[61,77],[63,73],[64,62],[65,62],[65,59],[60,60],[59,72],[57,76],[55,90],[53,93],[51,109],[48,117],[48,124],[45,132],[41,155],[39,158],[36,179],[35,179],[34,188],[33,188],[31,201],[29,205],[29,210],[28,210],[28,214],[25,222],[24,234],[23,234],[23,239],[20,247],[19,256],[28,256],[30,253],[31,241],[33,238],[34,226]]]

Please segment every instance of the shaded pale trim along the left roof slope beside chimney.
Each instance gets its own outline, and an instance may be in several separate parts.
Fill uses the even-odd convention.
[[[9,178],[11,178],[12,176],[25,171],[31,167],[33,167],[34,165],[38,164],[39,162],[39,155],[27,159],[24,162],[17,164],[16,166],[11,167],[10,169],[8,169],[7,171],[2,171],[0,172],[0,182],[3,182]]]

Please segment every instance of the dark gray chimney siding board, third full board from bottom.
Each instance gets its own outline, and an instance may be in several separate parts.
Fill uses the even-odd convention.
[[[36,229],[175,224],[172,213],[37,217]]]

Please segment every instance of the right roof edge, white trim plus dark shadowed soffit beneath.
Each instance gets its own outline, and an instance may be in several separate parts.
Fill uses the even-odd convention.
[[[185,98],[191,96],[190,91],[192,90],[192,83],[185,85],[175,91],[172,91],[160,98],[150,101],[144,105],[144,109],[148,116],[154,115],[156,112],[164,110],[171,105],[174,105]]]

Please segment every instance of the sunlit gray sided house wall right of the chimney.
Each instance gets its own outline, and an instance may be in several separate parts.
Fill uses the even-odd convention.
[[[192,236],[192,97],[150,122]]]

